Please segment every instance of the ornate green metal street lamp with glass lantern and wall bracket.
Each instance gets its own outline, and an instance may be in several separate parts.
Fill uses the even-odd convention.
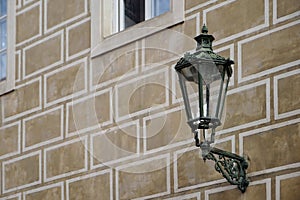
[[[202,158],[215,162],[215,169],[227,181],[245,192],[249,185],[246,176],[248,163],[244,157],[227,152],[211,144],[215,142],[215,130],[221,125],[221,117],[230,77],[230,59],[212,50],[214,37],[204,25],[202,33],[195,37],[195,53],[186,53],[176,64],[180,89],[186,110],[187,123],[194,133],[195,144],[202,150]],[[199,133],[203,134],[203,141]]]

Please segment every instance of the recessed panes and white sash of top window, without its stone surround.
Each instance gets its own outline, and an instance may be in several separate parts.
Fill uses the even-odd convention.
[[[112,0],[104,4],[103,35],[107,37],[168,11],[170,0]]]

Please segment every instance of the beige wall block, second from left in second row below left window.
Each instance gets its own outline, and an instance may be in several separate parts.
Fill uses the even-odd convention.
[[[63,139],[63,120],[62,106],[24,119],[24,150]]]

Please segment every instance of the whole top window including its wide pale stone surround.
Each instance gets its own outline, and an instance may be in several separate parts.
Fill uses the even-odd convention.
[[[184,0],[91,1],[91,56],[99,56],[183,20]]]

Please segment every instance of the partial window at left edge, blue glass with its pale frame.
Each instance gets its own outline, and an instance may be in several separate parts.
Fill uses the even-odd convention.
[[[15,86],[15,0],[0,0],[0,95]]]

